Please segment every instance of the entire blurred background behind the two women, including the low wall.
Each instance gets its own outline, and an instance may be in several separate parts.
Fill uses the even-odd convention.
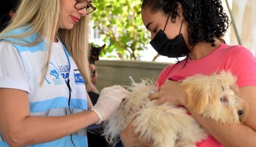
[[[0,29],[10,21],[9,12],[19,0],[0,0]],[[157,79],[161,70],[177,59],[159,56],[152,49],[150,33],[141,20],[142,0],[93,0],[90,43],[106,46],[95,62],[100,91],[114,84],[130,85],[141,78]],[[224,36],[227,44],[241,44],[256,56],[256,0],[222,0],[231,26]],[[182,59],[182,58],[181,58]],[[181,60],[180,59],[180,60]]]

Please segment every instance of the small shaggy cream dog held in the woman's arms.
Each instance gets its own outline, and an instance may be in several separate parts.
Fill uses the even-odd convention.
[[[247,103],[237,96],[236,78],[230,72],[209,76],[187,77],[180,85],[187,96],[189,110],[225,125],[240,123],[247,117]],[[109,143],[116,141],[130,121],[140,140],[153,147],[196,147],[208,133],[188,115],[187,109],[171,103],[156,105],[148,96],[158,91],[151,80],[142,80],[128,88],[131,92],[120,108],[105,122],[104,135]]]

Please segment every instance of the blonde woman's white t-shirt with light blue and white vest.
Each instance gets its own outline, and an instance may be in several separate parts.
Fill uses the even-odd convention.
[[[29,41],[34,36],[28,38]],[[64,116],[88,110],[85,81],[59,41],[53,44],[48,71],[40,86],[44,64],[44,42],[34,47],[13,45],[0,41],[0,88],[15,88],[28,92],[31,116]],[[69,76],[70,75],[70,76]],[[70,84],[65,81],[69,80]],[[68,87],[70,86],[70,88]],[[70,110],[69,110],[70,109]],[[88,147],[86,128],[72,133],[76,147]],[[0,146],[7,144],[0,132]],[[36,147],[71,147],[69,135]]]

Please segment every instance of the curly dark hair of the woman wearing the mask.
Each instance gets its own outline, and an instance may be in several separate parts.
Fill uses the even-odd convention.
[[[208,42],[215,46],[214,38],[220,39],[230,25],[228,15],[224,13],[221,0],[143,0],[142,9],[149,8],[152,13],[171,14],[175,22],[178,3],[183,9],[183,17],[188,26],[188,40],[192,48],[199,42]]]

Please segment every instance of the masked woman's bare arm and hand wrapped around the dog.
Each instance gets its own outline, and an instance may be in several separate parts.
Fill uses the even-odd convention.
[[[244,124],[223,125],[189,111],[195,120],[225,147],[256,147],[256,87],[240,88],[240,97],[248,103],[249,108]],[[187,103],[187,98],[176,81],[166,81],[160,92],[151,94],[150,99],[158,99],[158,104],[171,102],[185,107]]]

